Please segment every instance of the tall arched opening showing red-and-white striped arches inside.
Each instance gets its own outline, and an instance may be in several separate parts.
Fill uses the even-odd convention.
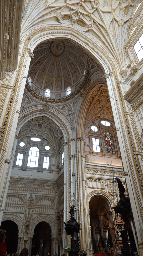
[[[113,248],[110,232],[109,204],[101,196],[94,196],[89,202],[92,250],[94,253]],[[111,223],[112,224],[112,223]]]

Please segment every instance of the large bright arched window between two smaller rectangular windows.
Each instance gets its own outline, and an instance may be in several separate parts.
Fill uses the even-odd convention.
[[[39,149],[37,147],[31,147],[29,149],[28,167],[38,167]]]

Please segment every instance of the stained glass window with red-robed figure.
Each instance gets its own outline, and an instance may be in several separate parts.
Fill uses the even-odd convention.
[[[103,133],[106,154],[116,155],[113,136],[109,132]]]

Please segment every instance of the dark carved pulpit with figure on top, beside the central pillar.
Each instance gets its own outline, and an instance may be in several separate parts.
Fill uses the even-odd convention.
[[[70,206],[69,206],[70,207]],[[76,219],[74,218],[74,208],[70,207],[70,220],[68,220],[65,224],[65,230],[67,235],[71,235],[71,252],[69,252],[69,256],[77,256],[79,251],[79,230],[80,225],[77,223]]]

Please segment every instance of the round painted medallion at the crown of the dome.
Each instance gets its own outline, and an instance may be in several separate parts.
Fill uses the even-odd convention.
[[[65,43],[63,41],[54,41],[50,43],[49,50],[52,56],[60,57],[65,52]]]

